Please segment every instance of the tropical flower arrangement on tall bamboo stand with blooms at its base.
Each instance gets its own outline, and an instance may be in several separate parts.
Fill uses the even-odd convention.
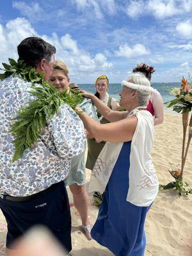
[[[188,156],[189,145],[192,138],[192,114],[189,116],[192,109],[192,82],[182,77],[180,88],[174,88],[171,92],[176,99],[168,102],[168,108],[173,106],[173,111],[182,113],[182,127],[183,127],[183,138],[182,138],[182,156],[181,156],[181,168],[176,170],[169,170],[170,174],[175,178],[175,182],[170,182],[166,186],[160,185],[160,188],[170,189],[175,188],[179,195],[192,194],[192,189],[187,189],[189,184],[183,182],[184,166],[186,158]],[[188,131],[188,132],[187,132]],[[187,140],[187,141],[186,141]]]

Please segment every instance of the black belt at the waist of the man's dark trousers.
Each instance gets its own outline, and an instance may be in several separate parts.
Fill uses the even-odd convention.
[[[51,189],[53,189],[58,183],[52,184],[49,188],[40,191],[38,193],[35,193],[33,195],[30,196],[10,196],[10,195],[0,195],[0,197],[3,200],[9,200],[9,201],[13,201],[13,202],[26,202],[26,201],[30,201],[33,200],[35,198],[37,198],[40,195],[45,195],[47,192],[49,192]]]

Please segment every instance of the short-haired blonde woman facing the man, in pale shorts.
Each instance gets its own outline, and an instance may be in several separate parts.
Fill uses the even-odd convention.
[[[49,83],[59,91],[69,90],[70,78],[68,76],[68,68],[62,61],[55,61],[54,68],[51,76],[49,77]],[[81,216],[84,232],[88,240],[92,239],[90,236],[90,221],[88,220],[88,194],[84,187],[85,180],[85,164],[84,164],[84,152],[72,159],[70,173],[67,177],[67,185],[72,192],[74,205],[79,211]]]

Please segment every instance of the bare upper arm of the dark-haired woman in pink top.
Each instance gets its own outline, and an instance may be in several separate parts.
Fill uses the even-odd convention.
[[[154,108],[154,125],[163,123],[163,100],[159,92],[153,92],[151,102]]]

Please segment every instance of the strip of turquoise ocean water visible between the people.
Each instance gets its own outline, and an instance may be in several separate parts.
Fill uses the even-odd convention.
[[[180,83],[152,83],[152,86],[161,93],[161,97],[163,98],[164,106],[166,106],[166,102],[174,99],[173,95],[170,95],[170,91],[173,88],[179,88]],[[83,90],[87,92],[95,93],[95,85],[94,84],[79,84]],[[109,84],[108,93],[116,100],[119,100],[119,93],[122,90],[121,84]]]

